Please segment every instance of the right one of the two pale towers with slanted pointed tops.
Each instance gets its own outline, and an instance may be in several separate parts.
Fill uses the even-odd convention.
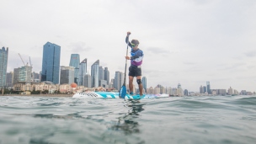
[[[95,61],[91,67],[92,88],[99,87],[99,60]]]

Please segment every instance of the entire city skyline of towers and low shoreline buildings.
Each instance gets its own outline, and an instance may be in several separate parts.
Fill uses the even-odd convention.
[[[20,56],[20,55],[19,55]],[[20,56],[21,60],[22,57]],[[30,60],[30,59],[29,59]],[[22,60],[23,61],[23,60]],[[60,66],[61,46],[47,42],[43,46],[42,69],[40,73],[32,72],[32,65],[24,64],[22,67],[7,72],[8,48],[0,49],[0,89],[8,88],[14,91],[31,92],[47,91],[47,93],[76,93],[84,91],[119,91],[124,83],[124,72],[115,72],[115,77],[109,77],[108,67],[101,67],[99,60],[95,61],[88,72],[88,60],[80,61],[79,54],[71,54],[69,66]],[[24,61],[23,61],[24,63]],[[171,96],[200,96],[200,95],[253,95],[255,92],[242,90],[240,93],[233,88],[211,89],[210,82],[200,86],[200,92],[189,92],[182,89],[180,83],[177,88],[165,88],[157,85],[147,88],[147,77],[141,79],[143,93],[168,93]],[[129,86],[127,85],[127,89]],[[139,93],[134,86],[133,93]]]

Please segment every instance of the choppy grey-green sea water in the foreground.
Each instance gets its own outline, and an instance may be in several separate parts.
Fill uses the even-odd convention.
[[[0,144],[256,142],[256,97],[0,97]]]

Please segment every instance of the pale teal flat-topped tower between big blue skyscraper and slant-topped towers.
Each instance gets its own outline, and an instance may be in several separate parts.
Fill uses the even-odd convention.
[[[78,84],[77,80],[78,80],[79,64],[80,64],[79,54],[71,54],[69,66],[74,67],[74,83],[77,83],[77,84]]]

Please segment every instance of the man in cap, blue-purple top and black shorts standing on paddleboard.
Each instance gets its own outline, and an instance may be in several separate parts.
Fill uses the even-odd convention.
[[[129,35],[131,35],[131,32],[128,31],[125,42],[127,45],[131,47],[131,56],[125,56],[126,60],[131,60],[131,66],[129,67],[129,89],[130,94],[133,94],[133,78],[136,77],[136,82],[139,85],[140,89],[140,96],[143,95],[142,93],[142,83],[141,83],[141,64],[143,59],[143,51],[139,49],[138,45],[140,44],[139,40],[131,40],[129,41]]]

